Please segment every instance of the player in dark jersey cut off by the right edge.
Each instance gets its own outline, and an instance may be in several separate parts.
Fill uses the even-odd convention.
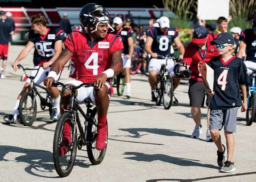
[[[250,67],[253,70],[256,70],[256,17],[253,19],[252,29],[242,31],[239,39],[241,41],[237,57],[242,59],[246,51],[246,61],[244,64],[247,68]],[[253,73],[250,69],[247,69],[247,72],[249,75],[252,75]]]

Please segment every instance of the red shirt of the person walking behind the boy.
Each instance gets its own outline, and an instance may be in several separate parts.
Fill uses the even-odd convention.
[[[214,38],[213,38],[214,36]],[[218,34],[208,34],[208,39],[207,39],[207,51],[205,54],[205,50],[201,49],[202,56],[205,54],[204,62],[208,63],[213,57],[219,56],[219,53],[217,49],[215,48],[214,45],[211,45],[210,42],[217,38]],[[191,70],[191,79],[196,80],[196,81],[203,81],[202,77],[199,76],[199,71],[198,71],[198,62],[201,60],[203,61],[200,52],[199,52],[199,47],[191,42],[188,44],[188,46],[185,49],[185,54],[183,56],[183,62],[187,63],[187,65],[190,65],[190,70]]]

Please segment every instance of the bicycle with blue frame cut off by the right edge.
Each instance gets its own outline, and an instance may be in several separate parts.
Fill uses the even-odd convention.
[[[246,125],[250,126],[255,121],[256,117],[256,70],[250,67],[247,68],[253,71],[251,76],[251,85],[249,86],[247,93],[248,108],[246,110]]]

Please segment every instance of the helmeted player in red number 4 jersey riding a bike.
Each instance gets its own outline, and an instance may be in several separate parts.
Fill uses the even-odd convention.
[[[122,38],[118,35],[108,34],[108,12],[103,6],[95,3],[86,4],[79,13],[81,25],[88,27],[88,33],[72,32],[65,40],[66,49],[60,54],[52,65],[51,72],[44,83],[46,88],[51,88],[54,77],[60,72],[71,56],[77,64],[78,79],[66,83],[66,85],[80,85],[81,83],[94,83],[94,87],[81,87],[76,91],[76,99],[79,104],[91,99],[98,111],[98,136],[97,150],[103,150],[107,145],[107,112],[109,95],[111,93],[110,78],[122,72],[123,61]],[[114,31],[114,30],[113,30]],[[96,87],[95,87],[96,86]],[[69,108],[70,90],[63,90],[61,107]],[[61,112],[63,113],[63,109]],[[71,142],[70,125],[65,123],[63,137]],[[62,138],[63,139],[63,138]],[[66,147],[66,146],[63,146]],[[62,150],[62,149],[60,149]],[[63,149],[65,151],[66,149]]]

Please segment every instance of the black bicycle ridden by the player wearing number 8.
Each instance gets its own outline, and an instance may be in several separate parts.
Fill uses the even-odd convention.
[[[170,109],[173,100],[173,81],[170,73],[167,69],[167,60],[170,57],[157,56],[157,59],[165,59],[165,64],[162,65],[161,70],[157,76],[157,82],[155,85],[156,91],[156,105],[160,106],[163,100],[164,109]]]

